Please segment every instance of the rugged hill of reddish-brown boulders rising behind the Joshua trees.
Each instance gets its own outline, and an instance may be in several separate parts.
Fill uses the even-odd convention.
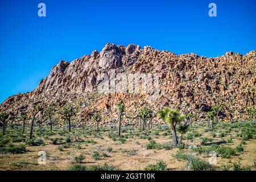
[[[158,94],[152,93],[99,93],[98,85],[105,76],[115,73],[138,73],[159,76]],[[103,75],[103,76],[102,76]],[[118,81],[117,81],[118,82]],[[129,81],[128,81],[129,82]],[[143,80],[139,80],[143,84]],[[56,108],[70,104],[76,107],[76,122],[86,118],[89,111],[101,110],[102,125],[117,118],[115,103],[126,105],[125,123],[134,123],[137,111],[143,106],[157,111],[163,107],[183,112],[199,110],[199,118],[205,118],[210,106],[223,102],[223,119],[246,117],[245,108],[255,105],[256,51],[246,55],[227,52],[223,56],[207,58],[194,53],[176,55],[151,47],[141,48],[106,44],[100,51],[93,51],[71,63],[61,60],[52,68],[49,76],[40,81],[38,88],[7,98],[0,109],[8,111],[18,122],[20,113],[32,115],[32,104],[55,104]],[[39,113],[43,116],[43,113]],[[158,122],[158,119],[155,118]],[[89,122],[88,122],[89,123]]]

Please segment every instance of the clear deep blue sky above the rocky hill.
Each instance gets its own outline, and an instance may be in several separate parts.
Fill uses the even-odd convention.
[[[46,3],[46,17],[38,3]],[[217,17],[208,5],[217,5]],[[256,1],[0,1],[0,103],[106,43],[207,57],[256,49]]]

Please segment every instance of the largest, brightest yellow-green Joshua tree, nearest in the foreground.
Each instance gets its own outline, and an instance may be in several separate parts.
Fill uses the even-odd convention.
[[[176,133],[176,125],[184,121],[185,116],[181,115],[179,110],[165,108],[163,110],[158,111],[158,117],[170,124],[170,127],[172,129],[173,145],[174,147],[176,147],[179,142]]]

